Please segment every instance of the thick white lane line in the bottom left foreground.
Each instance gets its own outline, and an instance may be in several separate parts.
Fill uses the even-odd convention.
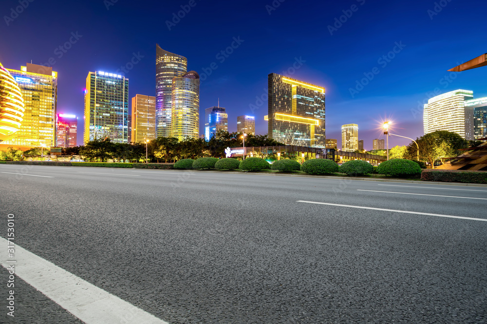
[[[0,246],[7,246],[7,240],[0,237]],[[12,259],[7,259],[6,248],[0,249],[0,260],[6,269],[15,265],[17,276],[86,324],[168,324],[19,245],[15,247],[17,262],[7,263]]]

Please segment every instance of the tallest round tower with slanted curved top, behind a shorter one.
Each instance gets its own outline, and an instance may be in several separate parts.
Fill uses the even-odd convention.
[[[156,136],[171,136],[172,79],[182,77],[187,72],[184,56],[164,51],[156,44],[155,58],[156,87]]]

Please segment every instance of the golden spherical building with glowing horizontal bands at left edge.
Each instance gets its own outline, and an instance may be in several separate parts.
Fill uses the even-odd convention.
[[[19,131],[24,111],[19,85],[0,63],[0,142]]]

